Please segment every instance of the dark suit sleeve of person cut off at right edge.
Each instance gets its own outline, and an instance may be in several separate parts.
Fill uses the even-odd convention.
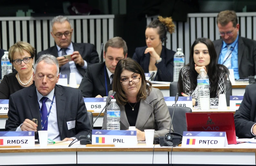
[[[246,86],[243,101],[234,115],[236,136],[239,138],[255,137],[251,127],[256,124],[256,84]]]

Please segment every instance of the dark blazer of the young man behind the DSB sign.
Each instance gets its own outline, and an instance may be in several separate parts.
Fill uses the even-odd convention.
[[[87,67],[87,72],[82,79],[78,89],[82,91],[83,97],[102,97],[107,96],[105,75],[104,75],[105,62],[92,64]],[[110,80],[106,69],[107,88],[110,91]]]

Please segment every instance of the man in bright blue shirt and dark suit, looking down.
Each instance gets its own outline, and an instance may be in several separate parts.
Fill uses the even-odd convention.
[[[218,63],[234,70],[235,79],[256,74],[256,41],[238,35],[239,27],[234,11],[222,11],[217,16],[221,39],[213,41]]]

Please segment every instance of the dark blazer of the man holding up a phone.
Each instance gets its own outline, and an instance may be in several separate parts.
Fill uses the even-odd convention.
[[[99,62],[99,55],[95,49],[95,46],[93,44],[90,43],[73,43],[73,48],[74,51],[78,51],[80,53],[80,55],[82,56],[83,60],[85,60],[87,62],[87,67],[93,63],[98,63]],[[58,49],[57,46],[53,46],[48,48],[45,51],[41,51],[38,52],[36,60],[44,54],[51,54],[53,56],[55,56],[56,58],[59,57],[58,56]],[[83,69],[81,66],[79,66],[78,64],[76,64],[77,70],[79,71],[79,73],[84,76],[86,70]]]

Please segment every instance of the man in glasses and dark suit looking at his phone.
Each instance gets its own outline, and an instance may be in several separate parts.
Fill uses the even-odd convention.
[[[99,56],[93,44],[73,43],[71,42],[73,28],[67,17],[56,16],[53,18],[51,35],[56,42],[56,46],[48,48],[38,53],[37,58],[43,54],[54,55],[60,67],[61,74],[67,74],[69,83],[69,74],[76,73],[77,84],[80,84],[85,75],[86,69],[90,64],[98,63]],[[68,61],[64,55],[71,55],[72,61]]]

